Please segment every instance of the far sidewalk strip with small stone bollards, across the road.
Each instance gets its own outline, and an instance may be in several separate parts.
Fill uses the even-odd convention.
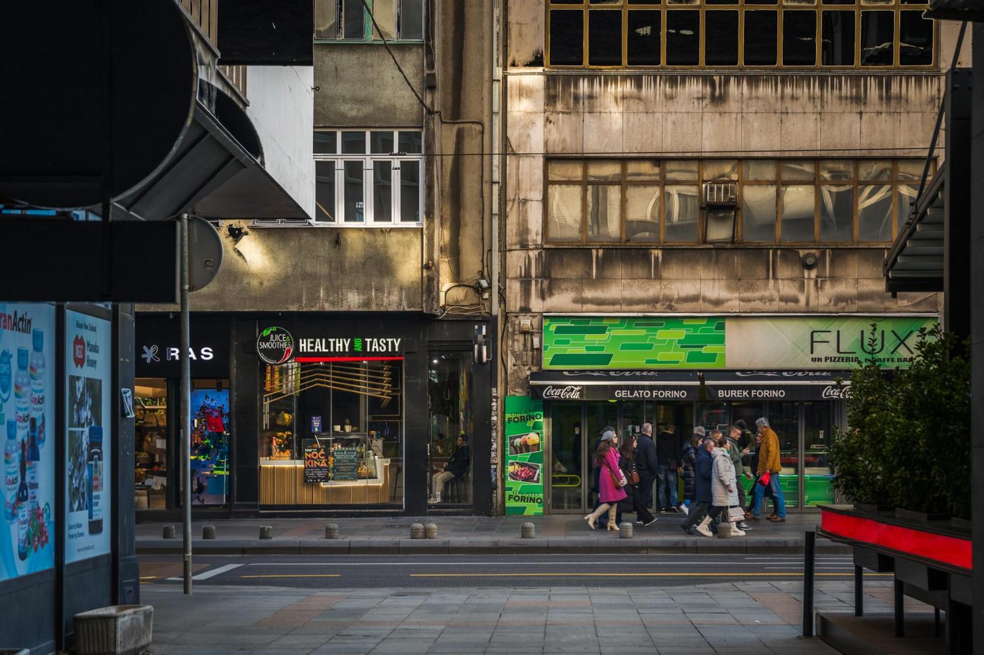
[[[630,517],[627,516],[626,520]],[[820,521],[819,513],[789,514],[785,523],[763,520],[752,523],[744,537],[718,539],[689,536],[680,529],[683,514],[659,514],[649,527],[635,526],[635,536],[621,538],[617,532],[589,530],[578,515],[552,514],[538,517],[484,516],[394,516],[373,518],[250,518],[194,521],[194,548],[215,554],[513,554],[513,553],[800,553],[804,533]],[[536,537],[520,538],[524,522],[536,526]],[[411,523],[434,523],[437,539],[411,540]],[[325,525],[337,523],[340,539],[325,539]],[[174,525],[177,539],[161,538],[162,526]],[[215,525],[217,539],[203,540],[202,526]],[[274,528],[274,538],[259,539],[261,525]],[[177,553],[181,550],[181,525],[146,521],[137,526],[137,552]],[[818,553],[844,553],[844,547],[818,540]]]

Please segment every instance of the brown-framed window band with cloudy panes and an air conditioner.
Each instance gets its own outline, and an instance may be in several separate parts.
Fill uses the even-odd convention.
[[[908,215],[923,165],[922,159],[549,159],[546,240],[884,244]],[[721,197],[728,188],[737,196]]]

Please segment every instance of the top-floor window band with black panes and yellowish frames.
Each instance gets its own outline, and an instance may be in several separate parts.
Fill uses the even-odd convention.
[[[927,9],[923,0],[547,0],[547,65],[925,68],[936,61]]]

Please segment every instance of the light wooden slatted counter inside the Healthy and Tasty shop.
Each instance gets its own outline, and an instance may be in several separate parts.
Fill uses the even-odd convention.
[[[260,505],[376,505],[390,502],[390,460],[376,459],[379,477],[304,482],[304,461],[260,459]]]

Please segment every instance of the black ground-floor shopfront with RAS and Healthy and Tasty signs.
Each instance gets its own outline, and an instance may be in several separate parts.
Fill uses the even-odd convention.
[[[180,507],[178,317],[137,320],[139,519]],[[490,364],[481,321],[416,314],[197,313],[197,514],[491,512]],[[171,399],[175,401],[171,401]],[[467,437],[467,467],[442,469]]]

